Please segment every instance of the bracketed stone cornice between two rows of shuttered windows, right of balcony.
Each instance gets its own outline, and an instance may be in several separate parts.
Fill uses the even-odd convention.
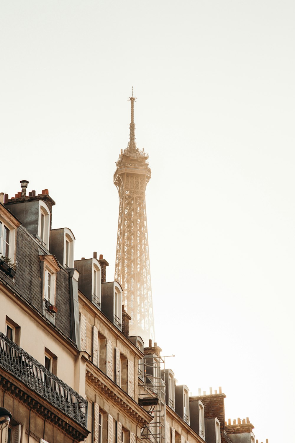
[[[149,424],[153,417],[126,392],[111,381],[100,369],[92,364],[86,364],[86,381],[99,391],[103,392],[113,403],[119,406],[136,423],[142,427]]]

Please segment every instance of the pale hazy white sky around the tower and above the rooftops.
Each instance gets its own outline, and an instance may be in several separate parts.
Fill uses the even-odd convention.
[[[0,1],[0,191],[48,188],[112,280],[133,86],[166,368],[269,443],[294,434],[294,23],[291,0]]]

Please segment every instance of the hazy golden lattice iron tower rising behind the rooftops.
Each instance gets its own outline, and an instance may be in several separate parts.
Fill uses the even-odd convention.
[[[146,185],[151,177],[149,156],[135,142],[134,101],[131,103],[130,140],[121,149],[114,184],[119,192],[119,220],[115,280],[123,288],[123,304],[131,315],[130,335],[142,337],[146,346],[154,340],[153,302],[146,222]]]

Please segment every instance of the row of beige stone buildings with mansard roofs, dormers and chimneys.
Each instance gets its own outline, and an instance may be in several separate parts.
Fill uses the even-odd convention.
[[[129,335],[107,260],[74,260],[48,190],[27,184],[0,194],[1,443],[255,443],[248,418],[226,423],[221,389],[190,396],[157,343]]]

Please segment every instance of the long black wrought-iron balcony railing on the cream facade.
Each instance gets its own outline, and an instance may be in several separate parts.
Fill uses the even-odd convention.
[[[0,332],[0,366],[87,427],[87,400]]]

